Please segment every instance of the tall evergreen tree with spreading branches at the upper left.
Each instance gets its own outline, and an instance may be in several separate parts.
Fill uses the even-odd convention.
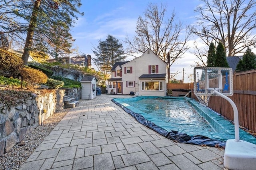
[[[27,65],[30,51],[70,53],[74,41],[70,28],[81,0],[6,0],[0,3],[0,29],[16,42],[24,43],[22,59]],[[24,39],[25,38],[25,39]]]

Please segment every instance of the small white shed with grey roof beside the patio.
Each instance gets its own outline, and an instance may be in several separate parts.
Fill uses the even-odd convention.
[[[81,80],[81,99],[94,99],[96,97],[96,78],[94,76],[84,76]]]

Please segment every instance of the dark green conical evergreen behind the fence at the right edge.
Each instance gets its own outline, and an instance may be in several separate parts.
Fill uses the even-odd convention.
[[[243,58],[238,62],[236,66],[237,71],[246,71],[256,68],[256,55],[250,48],[246,50]]]

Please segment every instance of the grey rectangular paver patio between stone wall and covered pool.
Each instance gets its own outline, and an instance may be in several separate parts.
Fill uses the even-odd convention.
[[[222,170],[224,150],[176,143],[138,123],[112,98],[80,100],[20,170]]]

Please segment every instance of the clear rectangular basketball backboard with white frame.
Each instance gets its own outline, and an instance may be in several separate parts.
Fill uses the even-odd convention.
[[[233,95],[232,68],[195,67],[194,94],[197,96],[213,96],[213,90],[225,96]]]

